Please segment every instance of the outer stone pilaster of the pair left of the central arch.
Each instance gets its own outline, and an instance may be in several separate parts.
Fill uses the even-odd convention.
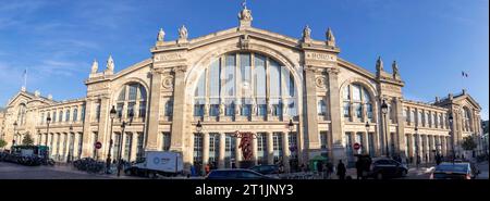
[[[145,121],[147,137],[146,150],[158,150],[158,120],[160,120],[161,73],[151,72],[151,84],[148,100],[148,116]],[[173,130],[173,129],[172,129]],[[172,134],[173,135],[173,134]]]

